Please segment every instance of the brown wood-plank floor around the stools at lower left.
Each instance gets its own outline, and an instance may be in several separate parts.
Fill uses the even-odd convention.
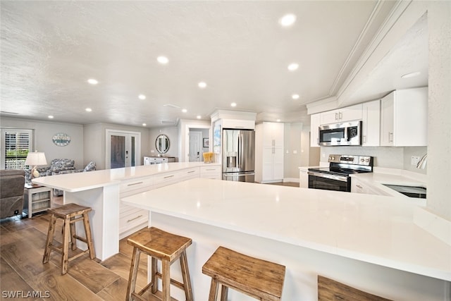
[[[49,263],[42,264],[48,223],[48,214],[0,220],[1,300],[8,293],[16,294],[11,300],[125,300],[132,255],[126,238],[113,257],[99,262],[85,254],[69,262],[68,274],[62,276],[57,252],[52,251]],[[56,229],[56,241],[61,242],[61,221]],[[137,290],[146,284],[147,257],[142,256]]]

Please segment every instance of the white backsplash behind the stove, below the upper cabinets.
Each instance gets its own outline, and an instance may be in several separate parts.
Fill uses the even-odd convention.
[[[374,166],[404,169],[415,173],[426,174],[424,169],[411,164],[412,156],[423,156],[427,147],[321,147],[321,161],[327,162],[329,154],[353,154],[373,156]]]

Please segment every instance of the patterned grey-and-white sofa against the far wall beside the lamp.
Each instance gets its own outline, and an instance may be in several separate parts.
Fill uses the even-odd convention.
[[[96,164],[95,162],[91,161],[85,166],[85,168],[81,169],[75,169],[75,160],[72,159],[53,159],[50,162],[50,166],[37,168],[37,171],[39,172],[39,177],[45,177],[45,176],[55,176],[55,175],[62,175],[65,173],[82,173],[85,171],[95,171],[96,170]],[[27,183],[31,184],[31,174],[30,171],[25,171],[25,179]],[[54,195],[61,196],[63,195],[62,190],[54,189]]]

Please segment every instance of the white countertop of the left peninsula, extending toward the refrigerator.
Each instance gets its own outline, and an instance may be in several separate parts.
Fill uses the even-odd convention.
[[[185,168],[215,165],[221,165],[221,163],[206,164],[204,162],[172,162],[165,164],[103,169],[100,171],[89,171],[85,173],[67,173],[63,175],[35,178],[32,180],[32,183],[59,190],[65,190],[68,192],[78,192],[101,188],[108,185],[117,185],[120,180],[153,176],[159,173],[180,171]]]

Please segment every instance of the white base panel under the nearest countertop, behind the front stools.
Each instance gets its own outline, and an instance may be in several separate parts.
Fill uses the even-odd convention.
[[[219,245],[249,256],[269,260],[286,266],[283,301],[318,300],[317,276],[326,276],[367,293],[393,300],[443,301],[449,300],[447,281],[420,276],[405,271],[369,264],[305,247],[277,242],[254,235],[230,231],[204,223],[187,221],[166,214],[151,213],[151,226],[192,238],[187,249],[188,265],[194,298],[206,300],[211,278],[202,274],[202,266]],[[172,271],[180,276],[178,264]],[[175,297],[181,298],[182,294]],[[234,301],[254,300],[230,290]],[[448,298],[448,299],[447,299]]]

